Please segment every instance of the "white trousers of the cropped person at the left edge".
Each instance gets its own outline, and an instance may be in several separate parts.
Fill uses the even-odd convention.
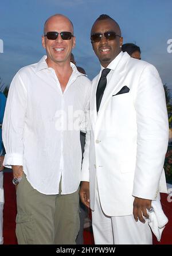
[[[0,245],[3,244],[3,172],[0,172]]]

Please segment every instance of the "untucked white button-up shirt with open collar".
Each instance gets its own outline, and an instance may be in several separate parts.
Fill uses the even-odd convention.
[[[32,187],[46,195],[58,194],[61,179],[65,195],[80,184],[80,130],[91,82],[71,63],[73,72],[62,93],[45,60],[20,69],[11,82],[2,127],[3,164],[22,165]]]

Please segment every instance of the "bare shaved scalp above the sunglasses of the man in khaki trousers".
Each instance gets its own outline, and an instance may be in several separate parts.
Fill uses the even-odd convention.
[[[73,33],[73,24],[72,21],[69,20],[68,17],[66,17],[65,15],[62,14],[54,14],[52,16],[50,16],[44,24],[44,34],[46,34],[46,32],[48,32],[48,26],[49,24],[52,24],[52,22],[65,22],[67,24],[69,24],[69,26],[71,27],[71,32]]]

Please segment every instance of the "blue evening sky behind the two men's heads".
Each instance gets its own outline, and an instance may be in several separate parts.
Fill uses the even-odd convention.
[[[1,0],[0,77],[9,85],[19,68],[41,59],[45,54],[41,45],[44,22],[61,13],[74,25],[77,65],[92,79],[100,65],[92,51],[90,30],[100,14],[108,14],[118,22],[123,42],[140,46],[142,59],[157,67],[172,92],[172,53],[167,52],[167,40],[172,41],[171,10],[171,0]]]

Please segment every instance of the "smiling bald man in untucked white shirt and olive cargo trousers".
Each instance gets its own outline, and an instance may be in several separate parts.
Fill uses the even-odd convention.
[[[70,62],[75,41],[67,17],[48,18],[46,56],[20,69],[10,86],[3,164],[13,168],[20,245],[72,245],[79,232],[80,130],[91,82]]]

